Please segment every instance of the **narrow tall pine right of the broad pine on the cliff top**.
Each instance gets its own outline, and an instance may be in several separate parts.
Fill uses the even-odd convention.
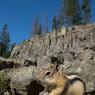
[[[87,24],[88,22],[90,22],[90,15],[91,15],[90,0],[83,0],[82,10],[84,16],[83,18],[84,24]]]

